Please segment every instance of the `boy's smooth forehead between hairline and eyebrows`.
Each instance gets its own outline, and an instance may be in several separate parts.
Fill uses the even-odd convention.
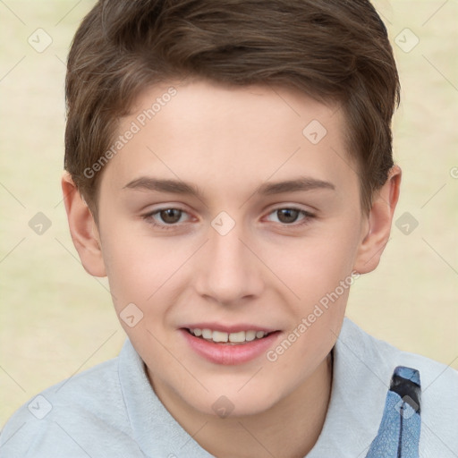
[[[303,174],[338,185],[352,174],[342,110],[293,89],[158,85],[121,120],[117,135],[128,131],[134,133],[107,165],[118,188],[148,174],[231,193],[234,183]]]

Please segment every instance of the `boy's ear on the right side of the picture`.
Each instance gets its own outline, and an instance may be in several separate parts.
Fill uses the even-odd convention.
[[[401,168],[394,165],[388,174],[386,183],[374,196],[353,267],[360,274],[372,272],[378,266],[383,250],[385,250],[390,236],[394,209],[399,199],[401,175]]]

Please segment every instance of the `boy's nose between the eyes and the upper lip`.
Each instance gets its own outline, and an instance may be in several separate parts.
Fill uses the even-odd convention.
[[[259,253],[240,226],[234,225],[225,235],[210,226],[209,240],[197,259],[197,292],[223,305],[253,299],[264,289]]]

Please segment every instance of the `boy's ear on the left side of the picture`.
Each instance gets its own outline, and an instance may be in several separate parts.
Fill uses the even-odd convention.
[[[68,172],[64,172],[61,183],[72,241],[80,255],[82,266],[91,276],[106,276],[94,217]]]

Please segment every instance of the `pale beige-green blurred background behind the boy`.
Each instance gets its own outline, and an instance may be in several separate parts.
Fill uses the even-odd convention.
[[[92,4],[0,2],[0,425],[38,391],[114,357],[124,340],[106,279],[89,276],[72,246],[60,188],[64,63]],[[353,285],[347,314],[458,369],[458,2],[375,4],[403,87],[395,220],[419,225],[394,225],[377,271]],[[29,226],[38,212],[51,222],[41,235]]]

